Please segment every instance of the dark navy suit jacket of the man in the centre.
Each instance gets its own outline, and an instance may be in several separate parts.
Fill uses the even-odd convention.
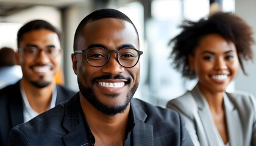
[[[27,123],[12,128],[10,145],[89,145],[79,94]],[[193,145],[180,115],[171,109],[132,99],[132,145]]]

